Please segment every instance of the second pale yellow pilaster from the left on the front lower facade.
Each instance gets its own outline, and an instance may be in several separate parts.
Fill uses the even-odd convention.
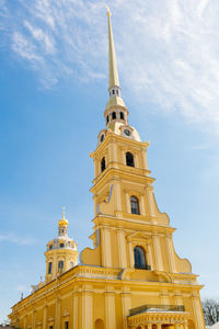
[[[112,291],[105,294],[105,315],[106,315],[106,329],[116,328],[116,311],[115,311],[115,293]]]

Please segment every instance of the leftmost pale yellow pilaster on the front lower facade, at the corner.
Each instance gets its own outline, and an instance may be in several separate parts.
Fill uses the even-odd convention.
[[[82,328],[93,329],[93,296],[90,286],[82,292]]]

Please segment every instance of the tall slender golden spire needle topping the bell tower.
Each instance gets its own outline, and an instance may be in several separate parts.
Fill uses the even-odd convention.
[[[108,16],[108,90],[113,87],[119,88],[118,70],[116,63],[116,53],[113,38],[113,30],[111,24],[111,11],[106,5]]]

